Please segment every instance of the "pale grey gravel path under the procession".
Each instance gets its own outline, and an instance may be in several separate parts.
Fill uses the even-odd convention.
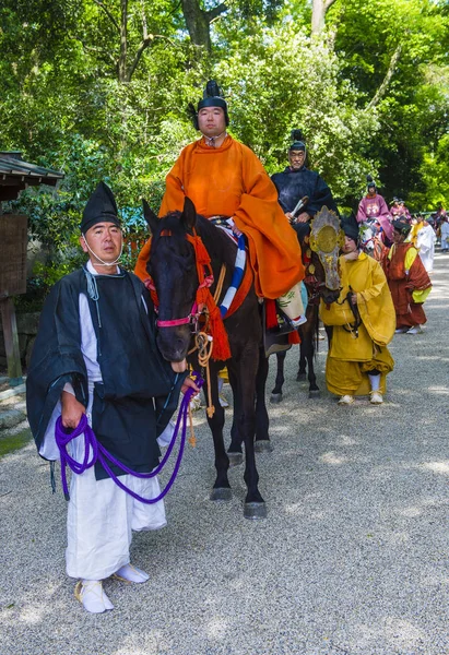
[[[48,466],[33,445],[2,460],[0,654],[449,654],[448,255],[436,255],[434,285],[425,332],[393,340],[381,407],[336,405],[324,342],[322,397],[308,400],[288,353],[274,451],[258,455],[267,521],[243,517],[241,467],[234,499],[209,501],[213,449],[196,414],[169,524],[134,536],[150,582],[107,581],[113,612],[88,615],[73,597]]]

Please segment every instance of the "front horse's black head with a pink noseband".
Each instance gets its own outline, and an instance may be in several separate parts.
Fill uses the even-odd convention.
[[[145,201],[143,213],[152,233],[146,271],[158,298],[157,346],[168,361],[181,361],[190,344],[199,284],[193,246],[186,238],[196,225],[197,212],[186,198],[182,213],[157,218]]]

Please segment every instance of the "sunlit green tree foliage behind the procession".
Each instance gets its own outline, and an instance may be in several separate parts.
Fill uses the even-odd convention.
[[[302,128],[342,205],[367,172],[388,199],[449,204],[448,21],[444,0],[3,0],[0,146],[66,172],[56,193],[23,194],[33,233],[72,252],[99,179],[120,206],[157,210],[212,76],[270,172]]]

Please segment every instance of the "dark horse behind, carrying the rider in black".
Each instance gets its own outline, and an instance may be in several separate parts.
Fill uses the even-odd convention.
[[[334,302],[340,295],[340,289],[328,288],[328,267],[333,266],[329,261],[323,260],[317,252],[310,250],[309,235],[310,226],[308,224],[293,225],[296,230],[298,241],[303,253],[303,263],[306,269],[306,277],[304,283],[307,289],[307,322],[298,327],[300,337],[299,346],[299,368],[296,380],[299,382],[306,379],[309,381],[309,398],[318,397],[320,390],[317,384],[317,377],[314,370],[314,359],[318,352],[318,329],[319,329],[319,303],[322,298],[326,303]],[[334,278],[336,271],[332,267],[332,277]],[[328,340],[331,337],[330,330],[327,329]],[[277,370],[274,389],[271,392],[271,402],[280,403],[282,401],[282,386],[285,382],[284,362],[286,353],[276,353]]]

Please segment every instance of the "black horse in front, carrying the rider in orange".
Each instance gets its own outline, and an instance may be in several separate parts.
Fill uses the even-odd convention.
[[[199,279],[193,246],[187,239],[187,235],[193,235],[193,233],[201,237],[211,258],[214,277],[211,287],[212,294],[216,288],[222,264],[226,265],[220,303],[231,284],[237,252],[236,243],[223,229],[197,215],[194,205],[188,198],[186,198],[182,213],[173,212],[159,219],[144,203],[144,214],[152,233],[147,273],[157,291],[159,321],[172,321],[193,313],[192,307]],[[258,489],[259,474],[256,467],[255,445],[258,451],[269,451],[271,444],[264,403],[268,360],[261,350],[260,305],[253,287],[245,297],[241,306],[224,320],[224,324],[232,358],[226,362],[210,359],[211,397],[204,385],[208,405],[211,401],[215,407],[213,416],[208,415],[214,441],[216,468],[216,479],[211,499],[228,500],[232,498],[227,476],[229,460],[234,464],[243,461],[241,445],[244,443],[244,478],[247,485],[244,515],[247,519],[262,519],[267,515],[267,509]],[[191,344],[192,331],[189,324],[163,326],[158,330],[158,348],[165,359],[169,361],[181,361],[190,350]],[[192,353],[188,359],[194,368],[198,367],[197,353]],[[218,401],[217,388],[217,372],[224,365],[228,370],[234,396],[232,441],[227,453],[223,440],[224,409]]]

